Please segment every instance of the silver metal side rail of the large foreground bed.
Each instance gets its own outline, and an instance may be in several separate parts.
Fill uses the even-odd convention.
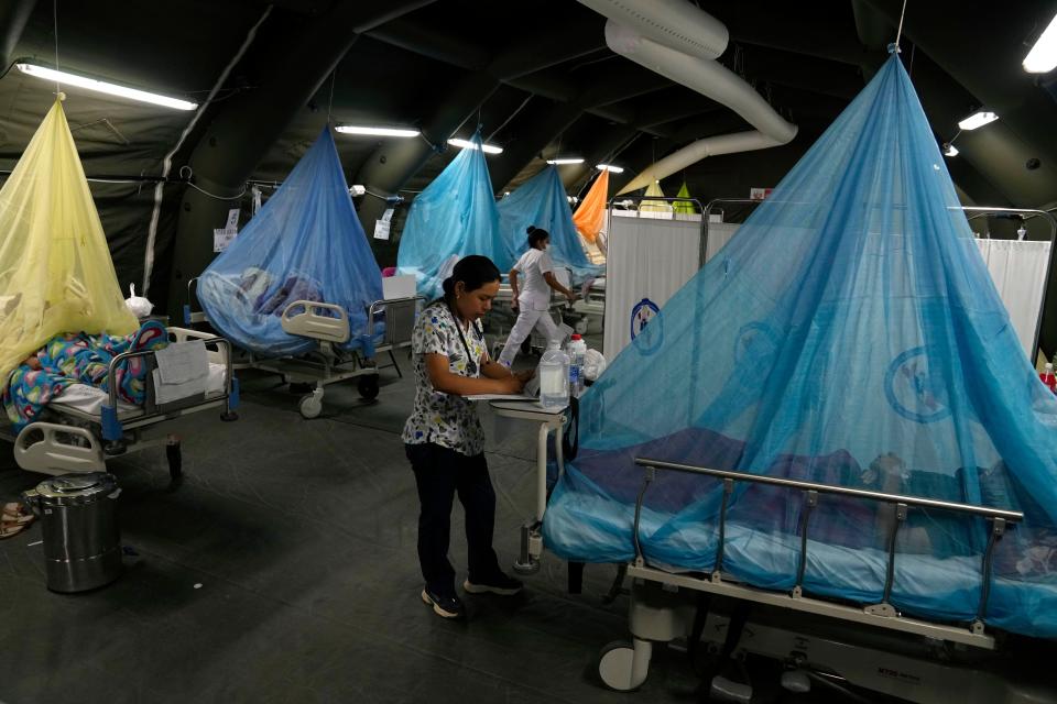
[[[898,616],[895,607],[890,603],[892,584],[895,576],[896,536],[898,534],[900,525],[906,520],[907,512],[911,507],[949,510],[989,520],[991,522],[991,530],[989,531],[988,546],[984,549],[983,561],[981,565],[982,586],[980,592],[980,604],[977,607],[977,618],[970,626],[971,631],[978,635],[983,632],[984,627],[983,618],[987,612],[988,597],[991,591],[991,570],[994,559],[994,548],[998,544],[998,541],[1002,539],[1002,536],[1005,534],[1009,527],[1024,519],[1023,513],[1005,510],[1002,508],[974,506],[971,504],[958,504],[920,496],[887,494],[884,492],[849,488],[847,486],[819,484],[817,482],[805,482],[802,480],[787,480],[776,476],[748,474],[744,472],[712,470],[709,468],[682,464],[678,462],[667,462],[665,460],[656,460],[651,458],[635,458],[635,464],[644,468],[642,488],[639,491],[639,496],[635,499],[635,522],[634,534],[632,536],[635,546],[635,566],[639,568],[645,566],[642,544],[639,538],[642,505],[643,501],[645,499],[646,490],[650,487],[650,483],[654,480],[656,470],[672,470],[676,472],[686,472],[689,474],[699,474],[722,480],[723,497],[719,513],[719,540],[716,549],[716,564],[710,574],[710,580],[712,582],[722,582],[721,575],[723,563],[723,541],[727,529],[727,509],[730,504],[730,497],[734,491],[734,483],[745,482],[749,484],[766,484],[802,492],[804,513],[800,519],[800,552],[796,574],[796,584],[793,587],[792,594],[794,597],[800,597],[803,594],[804,571],[807,565],[808,519],[810,518],[811,510],[818,505],[819,494],[833,494],[837,496],[880,502],[891,505],[894,520],[892,521],[891,528],[889,529],[889,535],[886,536],[887,570],[885,573],[884,592],[880,603],[865,607],[865,612],[872,616]]]

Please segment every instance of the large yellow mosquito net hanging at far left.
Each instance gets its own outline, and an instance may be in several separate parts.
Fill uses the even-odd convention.
[[[56,100],[0,188],[0,380],[61,332],[135,328]]]

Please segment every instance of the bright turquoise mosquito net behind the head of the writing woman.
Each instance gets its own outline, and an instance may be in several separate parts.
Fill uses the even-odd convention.
[[[499,212],[481,150],[465,148],[411,204],[396,266],[401,274],[414,274],[418,293],[427,298],[442,295],[440,285],[455,262],[467,254],[492,260],[500,271],[513,265],[499,233]]]

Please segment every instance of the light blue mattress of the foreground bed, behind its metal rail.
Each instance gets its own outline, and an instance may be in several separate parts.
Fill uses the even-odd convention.
[[[633,560],[634,504],[571,490],[569,480],[573,485],[589,480],[575,469],[568,472],[547,505],[547,549],[578,562]],[[668,572],[711,572],[719,538],[716,520],[671,518],[664,510],[643,507],[639,535],[646,562]],[[800,538],[795,532],[727,521],[724,579],[788,592],[796,583],[799,554]],[[981,562],[979,556],[938,558],[898,552],[890,602],[906,615],[948,623],[971,622],[980,604]],[[883,549],[809,538],[803,587],[809,595],[875,604],[882,600],[886,568],[887,553]],[[984,622],[1014,632],[1057,638],[1057,574],[1028,579],[1011,571],[998,573],[992,578]]]

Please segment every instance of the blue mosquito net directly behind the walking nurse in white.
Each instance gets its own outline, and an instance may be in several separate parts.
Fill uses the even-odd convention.
[[[543,228],[551,233],[547,252],[559,266],[573,275],[573,284],[579,286],[585,279],[601,276],[603,266],[591,264],[580,244],[580,234],[573,224],[573,211],[562,185],[558,169],[545,169],[522,184],[499,201],[499,227],[511,257],[517,261],[528,249],[528,226]]]

